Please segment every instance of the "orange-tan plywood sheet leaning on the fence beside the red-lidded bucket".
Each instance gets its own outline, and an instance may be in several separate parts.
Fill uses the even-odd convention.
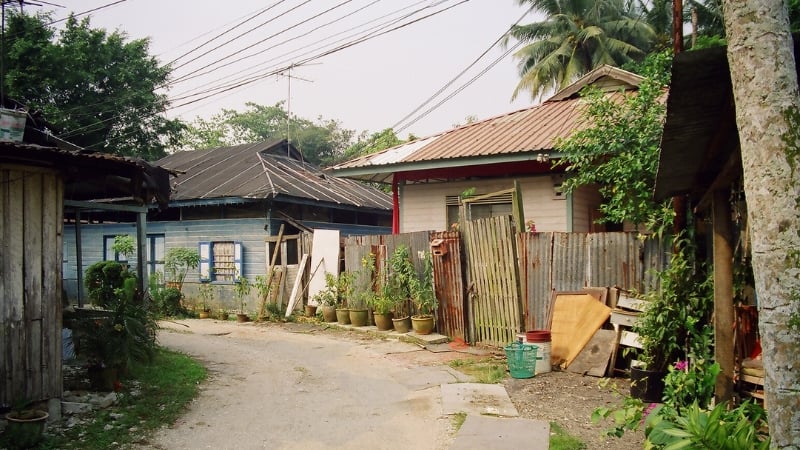
[[[569,367],[611,315],[611,308],[593,295],[576,292],[556,292],[550,310],[550,361],[563,369]]]

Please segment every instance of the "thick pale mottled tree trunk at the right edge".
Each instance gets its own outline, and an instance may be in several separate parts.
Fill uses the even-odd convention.
[[[724,0],[773,448],[800,447],[800,117],[781,0]]]

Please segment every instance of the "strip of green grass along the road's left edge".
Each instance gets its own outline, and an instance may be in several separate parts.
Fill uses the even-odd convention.
[[[173,423],[197,396],[207,375],[189,356],[159,348],[152,363],[132,367],[130,376],[121,380],[117,405],[91,413],[93,417],[63,434],[47,436],[38,448],[100,450],[140,442]]]

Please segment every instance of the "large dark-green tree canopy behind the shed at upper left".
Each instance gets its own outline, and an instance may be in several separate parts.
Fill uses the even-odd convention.
[[[183,124],[162,115],[168,100],[158,90],[169,69],[149,55],[149,41],[127,41],[74,16],[57,35],[50,22],[48,14],[8,12],[6,95],[41,111],[55,136],[80,147],[163,157]]]

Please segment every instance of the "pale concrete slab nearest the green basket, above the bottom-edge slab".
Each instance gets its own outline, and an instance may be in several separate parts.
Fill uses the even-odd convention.
[[[442,413],[519,416],[505,387],[499,384],[483,383],[442,385]]]

